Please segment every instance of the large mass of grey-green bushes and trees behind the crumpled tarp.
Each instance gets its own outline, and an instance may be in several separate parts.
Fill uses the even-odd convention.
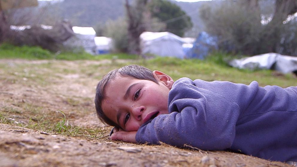
[[[257,1],[257,5],[251,2],[230,0],[217,7],[204,5],[201,8],[200,16],[205,22],[206,31],[218,37],[220,50],[245,55],[268,52],[296,55],[296,24],[284,24],[286,11],[277,8],[275,11],[279,11],[273,13],[273,10],[261,9],[270,6],[260,1]],[[286,6],[289,1],[279,2],[280,6]],[[264,21],[265,18],[271,19],[271,16],[270,22]]]

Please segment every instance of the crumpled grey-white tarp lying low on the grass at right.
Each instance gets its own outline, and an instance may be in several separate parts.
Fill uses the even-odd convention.
[[[274,69],[282,73],[297,71],[297,57],[266,53],[232,60],[229,65],[240,69]]]

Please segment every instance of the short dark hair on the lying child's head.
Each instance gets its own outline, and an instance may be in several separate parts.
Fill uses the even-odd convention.
[[[107,116],[105,116],[102,110],[102,101],[104,100],[104,98],[106,98],[105,89],[110,84],[110,82],[116,78],[117,75],[121,75],[123,77],[132,77],[136,79],[149,80],[159,84],[158,81],[154,78],[153,72],[150,69],[135,64],[127,65],[119,69],[113,69],[110,72],[108,72],[107,75],[102,77],[101,81],[99,81],[96,87],[96,113],[100,121],[103,122],[105,125],[115,127],[119,127],[119,125],[117,125],[115,122],[107,118]]]

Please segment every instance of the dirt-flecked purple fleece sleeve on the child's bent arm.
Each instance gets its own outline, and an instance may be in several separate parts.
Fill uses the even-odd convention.
[[[247,106],[257,91],[258,84],[247,86],[220,81],[208,83],[210,85],[206,84],[208,86],[205,87],[203,84],[196,86],[199,83],[195,84],[189,78],[178,80],[169,94],[170,114],[159,115],[142,125],[136,134],[137,142],[163,142],[177,147],[184,147],[186,144],[203,150],[230,148],[235,137],[240,106],[222,94],[228,89],[229,92],[247,92],[250,97],[246,97],[246,101],[240,104]],[[207,89],[212,86],[224,90],[218,92]],[[250,91],[251,87],[254,91]]]

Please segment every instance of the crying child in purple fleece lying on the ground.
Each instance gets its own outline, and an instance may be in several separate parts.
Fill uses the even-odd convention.
[[[112,140],[233,150],[297,161],[297,87],[181,78],[137,65],[110,71],[96,88]]]

